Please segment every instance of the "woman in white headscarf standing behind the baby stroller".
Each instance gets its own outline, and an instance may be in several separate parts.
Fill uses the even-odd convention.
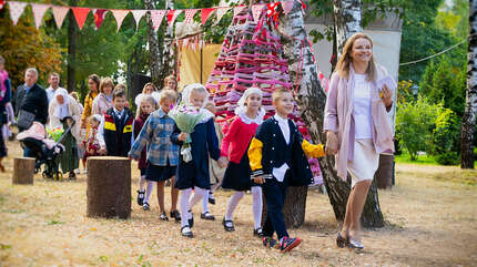
[[[50,129],[62,126],[67,131],[61,144],[64,145],[64,152],[60,156],[60,165],[63,174],[70,173],[71,179],[75,178],[74,170],[79,165],[78,140],[80,140],[80,121],[81,112],[78,102],[68,94],[64,89],[58,89],[49,106]],[[74,125],[72,125],[74,122]]]

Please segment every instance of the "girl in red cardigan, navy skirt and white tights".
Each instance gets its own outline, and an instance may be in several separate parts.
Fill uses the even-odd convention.
[[[256,129],[263,122],[265,110],[262,107],[262,90],[250,88],[238,100],[235,119],[222,141],[221,155],[229,157],[229,166],[222,181],[222,187],[236,191],[231,198],[222,222],[226,232],[235,230],[233,212],[246,191],[253,196],[253,219],[255,236],[262,236],[262,187],[251,181],[251,168],[247,156],[248,144],[255,136]]]

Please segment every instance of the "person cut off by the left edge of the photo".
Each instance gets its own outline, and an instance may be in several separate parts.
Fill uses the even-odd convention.
[[[8,72],[4,70],[4,59],[0,55],[0,129],[9,121],[8,104],[11,99],[11,83]],[[4,172],[3,157],[7,156],[7,146],[4,144],[3,134],[0,134],[0,172]]]

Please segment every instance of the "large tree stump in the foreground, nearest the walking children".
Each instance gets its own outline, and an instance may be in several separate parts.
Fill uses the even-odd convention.
[[[131,216],[131,161],[125,157],[88,158],[88,217]]]

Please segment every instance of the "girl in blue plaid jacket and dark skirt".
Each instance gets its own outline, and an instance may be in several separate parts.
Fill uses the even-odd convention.
[[[152,97],[152,96],[151,96]],[[145,179],[148,181],[146,198],[143,208],[148,206],[149,196],[152,193],[154,183],[158,183],[158,202],[160,207],[160,219],[169,220],[164,208],[164,183],[168,179],[174,182],[176,166],[179,163],[179,145],[171,143],[171,134],[174,130],[174,120],[168,113],[175,103],[176,94],[171,90],[163,90],[159,101],[160,109],[153,112],[145,121],[139,136],[132,145],[130,157],[138,160],[143,147],[148,144],[148,167]],[[171,188],[171,218],[181,220],[177,212],[176,188]],[[144,208],[146,209],[146,208]]]

